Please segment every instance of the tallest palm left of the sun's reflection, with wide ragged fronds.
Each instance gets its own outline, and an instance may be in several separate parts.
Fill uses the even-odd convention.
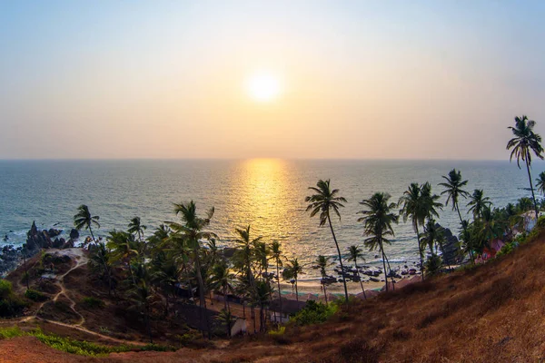
[[[206,313],[206,299],[204,299],[204,280],[203,280],[203,267],[201,266],[201,240],[210,240],[217,236],[210,231],[204,231],[206,227],[210,225],[210,221],[213,217],[213,208],[207,211],[206,216],[199,217],[197,215],[197,206],[194,201],[174,203],[174,212],[182,219],[182,223],[170,223],[170,227],[173,231],[182,235],[187,247],[193,250],[194,270],[197,277],[197,283],[199,284],[199,304],[201,309],[201,321],[206,319],[206,324],[210,328],[210,322],[208,321],[208,314]],[[208,329],[208,338],[212,338],[211,329]]]

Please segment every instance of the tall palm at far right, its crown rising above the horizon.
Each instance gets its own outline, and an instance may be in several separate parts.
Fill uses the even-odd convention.
[[[517,166],[520,169],[520,161],[526,162],[526,171],[528,172],[528,181],[530,182],[531,198],[534,204],[534,210],[536,212],[536,220],[538,219],[539,210],[538,203],[536,202],[536,196],[534,195],[533,185],[531,183],[530,166],[531,166],[531,152],[535,153],[541,160],[543,159],[543,147],[541,147],[541,136],[538,133],[533,132],[533,128],[536,122],[529,120],[527,116],[515,117],[515,127],[508,127],[513,132],[513,137],[507,142],[507,150],[512,149],[510,153],[509,161],[511,162],[513,156],[517,158]]]

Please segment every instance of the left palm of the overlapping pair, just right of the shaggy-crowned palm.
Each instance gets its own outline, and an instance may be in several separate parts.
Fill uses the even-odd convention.
[[[412,182],[409,188],[401,195],[398,205],[402,205],[400,215],[403,217],[403,221],[406,222],[411,218],[412,229],[416,233],[416,239],[418,242],[418,251],[421,259],[421,277],[424,279],[424,259],[423,251],[421,249],[420,231],[419,225],[424,226],[426,217],[428,217],[429,211],[426,207],[427,202],[421,195],[421,186],[417,182]]]

